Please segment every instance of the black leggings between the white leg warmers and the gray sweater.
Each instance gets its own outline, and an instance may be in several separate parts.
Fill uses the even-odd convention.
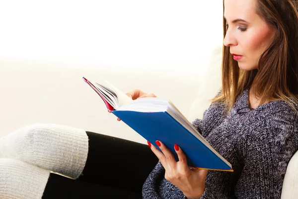
[[[158,159],[148,145],[86,132],[89,151],[82,175],[51,174],[42,199],[141,199]]]

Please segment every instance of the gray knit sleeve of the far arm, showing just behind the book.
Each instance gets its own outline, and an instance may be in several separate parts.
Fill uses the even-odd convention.
[[[219,126],[226,117],[224,103],[212,103],[203,113],[203,119],[195,119],[192,124],[204,136],[217,126]]]

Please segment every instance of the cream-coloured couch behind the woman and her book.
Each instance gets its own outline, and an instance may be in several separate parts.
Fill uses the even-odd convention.
[[[206,74],[197,78],[167,71],[98,67],[73,69],[46,60],[17,62],[0,60],[0,137],[32,123],[57,123],[147,144],[122,121],[109,114],[102,100],[82,81],[104,77],[127,92],[140,88],[170,99],[192,121],[202,118],[221,84],[222,47],[214,50]],[[42,67],[41,67],[42,66]],[[282,199],[298,198],[298,154],[291,159],[283,185]]]

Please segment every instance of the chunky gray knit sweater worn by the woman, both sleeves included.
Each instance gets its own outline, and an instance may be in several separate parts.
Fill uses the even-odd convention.
[[[250,110],[248,90],[227,115],[213,103],[193,125],[234,172],[208,171],[201,199],[280,199],[287,165],[298,149],[297,112],[287,102],[272,101]],[[182,149],[183,150],[183,149]],[[160,162],[143,186],[144,199],[183,199],[164,179]]]

